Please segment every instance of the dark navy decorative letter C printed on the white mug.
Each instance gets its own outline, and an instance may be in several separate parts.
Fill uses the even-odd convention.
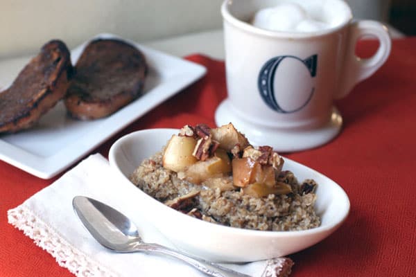
[[[296,111],[300,111],[301,109],[306,107],[306,105],[308,105],[308,103],[311,101],[313,97],[315,87],[313,87],[313,85],[311,84],[310,92],[308,95],[304,96],[304,98],[306,99],[301,104],[297,105],[296,107],[292,107],[291,109],[283,108],[281,105],[282,103],[279,103],[277,101],[276,96],[279,95],[279,93],[285,93],[285,91],[291,91],[293,89],[296,89],[297,82],[304,82],[304,80],[300,80],[300,78],[304,78],[301,75],[291,76],[291,78],[293,77],[293,80],[290,80],[290,82],[294,83],[292,88],[287,88],[285,89],[285,91],[275,91],[276,75],[284,73],[281,71],[277,71],[277,69],[279,68],[279,65],[281,65],[281,62],[285,59],[291,59],[292,62],[295,62],[295,66],[306,66],[306,69],[308,69],[310,73],[310,77],[307,77],[314,78],[316,75],[316,67],[318,64],[318,55],[311,55],[311,57],[307,57],[305,60],[302,60],[299,57],[295,57],[293,55],[277,56],[268,60],[268,62],[266,62],[266,64],[264,64],[261,67],[258,78],[258,87],[261,98],[264,100],[264,102],[266,102],[266,105],[268,105],[270,109],[273,109],[281,114],[291,114]],[[308,82],[309,81],[310,80],[308,80]],[[302,93],[302,91],[300,91],[300,93]]]

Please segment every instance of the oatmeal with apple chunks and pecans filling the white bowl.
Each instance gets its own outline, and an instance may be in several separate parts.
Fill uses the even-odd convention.
[[[234,126],[185,126],[141,163],[131,181],[159,202],[200,220],[243,229],[293,231],[320,225],[311,179],[281,170],[284,160],[254,148]]]

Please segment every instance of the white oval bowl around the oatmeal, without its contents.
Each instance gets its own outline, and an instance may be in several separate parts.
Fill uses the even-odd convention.
[[[146,129],[123,136],[110,149],[110,165],[125,182],[141,161],[160,151],[177,129]],[[250,140],[250,138],[248,138]],[[197,220],[165,206],[141,192],[138,211],[147,211],[147,219],[175,247],[194,256],[220,262],[250,262],[286,256],[311,247],[327,238],[343,223],[349,213],[345,191],[324,175],[285,158],[284,170],[303,179],[318,182],[315,211],[322,224],[306,231],[254,231],[221,226]],[[132,186],[134,186],[132,184]]]

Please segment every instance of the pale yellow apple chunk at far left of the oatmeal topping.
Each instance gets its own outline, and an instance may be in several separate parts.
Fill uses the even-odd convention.
[[[168,141],[162,157],[162,166],[175,172],[182,171],[198,161],[192,156],[196,139],[173,135]]]

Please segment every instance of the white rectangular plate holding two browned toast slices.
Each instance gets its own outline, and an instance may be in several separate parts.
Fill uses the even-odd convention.
[[[97,37],[115,36],[102,34]],[[71,51],[73,64],[87,43]],[[17,134],[0,135],[0,159],[32,175],[49,179],[206,72],[199,64],[130,43],[144,53],[150,67],[143,96],[107,118],[90,121],[69,118],[60,102],[42,116],[35,127]]]

